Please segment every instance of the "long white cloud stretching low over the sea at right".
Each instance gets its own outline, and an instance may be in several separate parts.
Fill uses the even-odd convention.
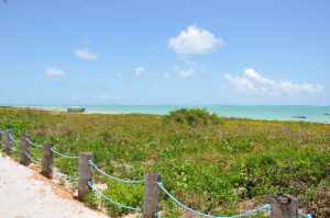
[[[318,83],[272,80],[263,77],[254,69],[246,69],[241,76],[226,74],[224,78],[238,92],[255,96],[318,94],[323,90],[322,85]]]

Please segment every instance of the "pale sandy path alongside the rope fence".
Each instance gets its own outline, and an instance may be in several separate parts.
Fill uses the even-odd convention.
[[[108,218],[73,195],[0,153],[0,218]]]

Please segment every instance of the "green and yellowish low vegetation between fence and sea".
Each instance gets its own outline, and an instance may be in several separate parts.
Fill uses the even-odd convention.
[[[38,144],[51,141],[62,152],[92,151],[106,172],[142,179],[151,171],[187,205],[210,214],[235,214],[263,203],[267,194],[290,193],[318,217],[330,217],[330,125],[298,122],[224,119],[202,110],[167,116],[97,115],[0,108],[0,127],[15,136],[29,133]],[[37,152],[37,151],[36,151]],[[37,156],[37,153],[33,153]],[[73,160],[55,161],[74,175]],[[105,193],[140,206],[143,185],[107,183]],[[326,193],[326,194],[324,194]],[[96,207],[91,200],[87,202]],[[161,197],[165,217],[182,210]],[[109,214],[127,210],[106,204]]]

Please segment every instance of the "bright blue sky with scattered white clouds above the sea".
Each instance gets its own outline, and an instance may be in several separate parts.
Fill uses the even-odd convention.
[[[0,2],[0,104],[329,105],[329,0]]]

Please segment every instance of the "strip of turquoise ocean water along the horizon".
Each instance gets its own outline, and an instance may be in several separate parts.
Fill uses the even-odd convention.
[[[253,119],[276,121],[304,121],[330,123],[330,106],[270,106],[270,105],[79,105],[86,108],[86,113],[106,114],[167,114],[182,107],[206,108],[224,117],[240,117]],[[66,111],[69,105],[62,106],[33,106],[43,110]],[[305,116],[306,118],[297,118]]]

